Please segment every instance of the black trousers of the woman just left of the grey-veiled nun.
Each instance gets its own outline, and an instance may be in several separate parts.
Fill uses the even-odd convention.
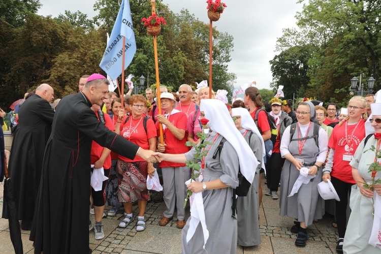
[[[279,152],[273,152],[266,164],[266,179],[267,187],[272,192],[278,191],[280,174],[282,173],[282,167],[284,163],[284,158],[280,155]]]

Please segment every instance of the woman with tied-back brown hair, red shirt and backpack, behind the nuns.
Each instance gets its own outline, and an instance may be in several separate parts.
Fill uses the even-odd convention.
[[[262,96],[259,94],[259,90],[257,87],[248,87],[245,90],[245,98],[244,98],[245,105],[248,105],[250,108],[250,115],[252,119],[256,122],[258,129],[260,130],[260,133],[262,135],[263,141],[266,141],[271,138],[271,129],[269,122],[267,120],[267,113],[263,110],[258,113],[258,121],[256,121],[256,112],[257,110],[261,109],[262,104]],[[266,154],[268,156],[268,154]],[[265,156],[265,157],[266,157]],[[266,162],[266,161],[265,161]],[[265,172],[265,169],[261,169],[259,174],[259,205],[262,203],[262,186],[261,186],[261,179],[262,179],[262,173]]]

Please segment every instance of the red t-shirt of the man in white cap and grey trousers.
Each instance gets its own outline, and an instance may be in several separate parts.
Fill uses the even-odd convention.
[[[189,146],[185,145],[186,138],[187,138],[187,132],[186,132],[186,115],[184,112],[177,112],[175,114],[170,114],[168,120],[177,128],[180,130],[185,131],[184,138],[182,140],[178,140],[173,134],[168,130],[168,128],[163,128],[164,133],[164,143],[166,143],[166,150],[165,153],[171,153],[171,154],[179,154],[179,153],[185,153],[190,150]],[[156,122],[156,129],[157,129],[157,136],[160,135],[159,133],[159,124]],[[163,125],[164,127],[164,125]],[[174,162],[166,162],[163,161],[159,163],[160,168],[166,168],[166,167],[184,167],[185,164],[181,163],[174,163]]]

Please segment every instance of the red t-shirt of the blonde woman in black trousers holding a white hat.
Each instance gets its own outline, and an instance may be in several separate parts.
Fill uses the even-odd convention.
[[[343,154],[348,153],[348,142],[350,142],[350,153],[355,154],[357,147],[361,141],[365,138],[365,120],[360,119],[359,125],[356,128],[356,124],[347,125],[347,139],[345,139],[345,124],[347,121],[344,121],[340,126],[337,124],[333,128],[331,138],[329,139],[328,146],[332,149],[335,149],[335,154],[333,156],[333,167],[331,176],[347,183],[356,184],[356,181],[352,176],[352,167],[349,165],[350,162],[343,161]],[[356,131],[353,133],[354,129]],[[353,133],[353,136],[351,136]],[[352,137],[352,141],[351,141]]]

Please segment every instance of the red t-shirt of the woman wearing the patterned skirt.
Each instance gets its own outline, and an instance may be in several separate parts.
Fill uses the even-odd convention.
[[[124,120],[125,121],[125,120]],[[148,150],[149,149],[149,143],[148,139],[156,137],[156,128],[155,124],[153,123],[153,120],[151,118],[147,119],[147,133],[144,130],[144,115],[142,115],[138,119],[134,119],[132,116],[130,116],[129,120],[127,122],[122,121],[120,123],[120,135],[130,140],[132,143],[137,144],[141,148]],[[156,142],[155,142],[156,143]],[[134,160],[130,160],[129,158],[123,157],[122,155],[119,155],[119,160],[125,161],[125,162],[144,162],[143,158],[136,155]]]

